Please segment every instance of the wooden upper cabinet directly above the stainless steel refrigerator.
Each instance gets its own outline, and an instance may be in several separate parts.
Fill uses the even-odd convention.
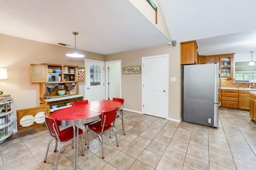
[[[196,41],[180,43],[180,64],[198,64],[197,49]]]

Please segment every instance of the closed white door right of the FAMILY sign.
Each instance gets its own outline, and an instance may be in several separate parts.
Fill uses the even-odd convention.
[[[142,57],[142,113],[167,118],[168,55]]]

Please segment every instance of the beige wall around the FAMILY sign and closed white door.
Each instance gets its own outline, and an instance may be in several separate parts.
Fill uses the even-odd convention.
[[[180,44],[176,47],[164,45],[106,55],[105,61],[121,60],[122,67],[141,66],[142,57],[169,54],[169,111],[170,119],[180,120]],[[170,77],[176,77],[177,82],[171,82]],[[122,74],[122,98],[124,108],[142,111],[142,77],[141,74]]]

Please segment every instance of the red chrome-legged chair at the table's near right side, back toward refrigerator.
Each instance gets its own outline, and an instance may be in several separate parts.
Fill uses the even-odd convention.
[[[87,145],[87,148],[89,149],[90,130],[92,130],[95,133],[97,133],[98,137],[100,138],[102,159],[104,159],[102,133],[109,129],[109,137],[111,138],[110,127],[112,127],[112,129],[114,130],[114,133],[115,133],[115,136],[116,136],[116,145],[119,147],[118,141],[117,141],[116,130],[114,129],[117,109],[118,109],[118,107],[116,107],[112,110],[102,111],[101,120],[96,122],[96,123],[90,124],[88,126],[89,131],[88,131],[88,145]],[[111,125],[112,123],[113,123],[113,125]]]

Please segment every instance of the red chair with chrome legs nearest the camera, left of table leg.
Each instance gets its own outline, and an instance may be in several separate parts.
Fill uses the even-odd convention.
[[[58,122],[57,122],[56,118],[49,117],[47,115],[47,113],[44,113],[44,117],[45,117],[46,127],[47,127],[50,135],[53,137],[48,143],[45,158],[44,158],[44,162],[46,162],[49,146],[50,146],[53,139],[55,139],[54,152],[56,152],[56,150],[57,150],[58,142],[59,143],[64,143],[64,145],[62,145],[60,147],[60,149],[58,151],[58,154],[57,154],[57,157],[56,157],[55,168],[54,168],[56,170],[59,155],[60,155],[60,151],[69,141],[72,141],[74,139],[74,131],[73,131],[73,127],[68,127],[66,129],[60,131],[60,127],[58,125]],[[76,127],[76,130],[77,130],[77,127]],[[83,145],[83,136],[82,136],[82,134],[83,134],[83,130],[79,128],[78,135],[76,134],[76,137],[81,136],[81,138],[82,138],[82,156],[84,156],[84,145]]]

